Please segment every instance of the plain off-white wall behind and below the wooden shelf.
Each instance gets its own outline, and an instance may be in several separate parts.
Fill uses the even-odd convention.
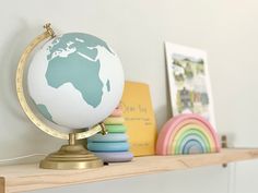
[[[63,143],[36,130],[15,96],[19,57],[46,22],[58,32],[86,32],[109,43],[126,77],[150,84],[159,126],[169,116],[163,41],[207,50],[218,130],[234,145],[258,146],[257,8],[256,0],[0,0],[0,159],[49,153]],[[255,193],[257,166],[247,161],[52,192]]]

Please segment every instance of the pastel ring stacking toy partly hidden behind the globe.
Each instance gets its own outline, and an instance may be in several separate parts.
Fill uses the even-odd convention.
[[[128,135],[121,107],[104,121],[108,132],[106,135],[96,134],[87,140],[87,149],[92,150],[104,162],[130,161],[133,155],[129,152]]]

